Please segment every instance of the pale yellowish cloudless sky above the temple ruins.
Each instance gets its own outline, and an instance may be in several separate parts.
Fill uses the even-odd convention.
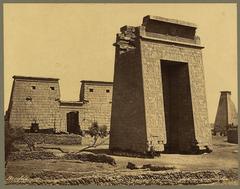
[[[12,76],[60,79],[62,100],[78,100],[80,80],[113,80],[116,33],[146,15],[197,24],[209,121],[221,90],[237,107],[236,4],[4,4],[4,109]]]

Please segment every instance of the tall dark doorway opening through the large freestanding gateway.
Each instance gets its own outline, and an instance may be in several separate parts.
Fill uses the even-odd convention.
[[[195,147],[195,132],[188,64],[161,60],[168,153],[188,153]]]

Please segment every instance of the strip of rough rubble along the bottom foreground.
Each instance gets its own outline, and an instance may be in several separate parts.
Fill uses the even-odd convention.
[[[64,173],[65,174],[65,173]],[[42,172],[28,179],[7,178],[8,184],[33,184],[33,185],[197,185],[222,183],[237,179],[237,172],[229,174],[228,171],[145,171],[138,174],[115,172],[111,175],[77,175],[73,173],[66,178],[64,174]],[[69,176],[69,175],[68,175]]]

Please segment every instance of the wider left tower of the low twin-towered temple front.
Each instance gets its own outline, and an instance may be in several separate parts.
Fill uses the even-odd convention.
[[[14,76],[8,108],[12,127],[30,129],[35,121],[39,129],[60,127],[58,79]]]

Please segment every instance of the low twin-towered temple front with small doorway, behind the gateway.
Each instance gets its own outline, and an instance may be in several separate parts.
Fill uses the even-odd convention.
[[[62,101],[59,79],[13,76],[12,92],[6,112],[11,127],[78,133],[94,121],[110,128],[112,82],[81,81],[79,101]]]

